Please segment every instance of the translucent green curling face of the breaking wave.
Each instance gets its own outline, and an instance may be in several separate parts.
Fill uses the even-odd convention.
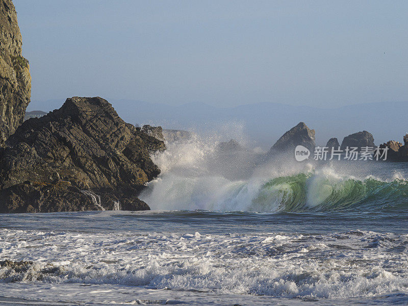
[[[265,183],[252,200],[250,211],[322,212],[388,210],[408,207],[405,180],[359,181],[335,175],[299,173]]]

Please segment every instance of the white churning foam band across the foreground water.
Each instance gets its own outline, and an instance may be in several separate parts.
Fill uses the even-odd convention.
[[[5,281],[286,298],[367,297],[404,291],[408,286],[407,253],[387,251],[406,248],[407,235],[145,235],[2,229],[0,237],[1,258],[35,262],[25,272],[1,268],[0,278]],[[370,247],[372,243],[376,247]]]

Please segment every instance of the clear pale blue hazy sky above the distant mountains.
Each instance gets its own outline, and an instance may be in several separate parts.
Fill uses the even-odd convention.
[[[406,1],[14,4],[32,100],[317,107],[408,100]]]

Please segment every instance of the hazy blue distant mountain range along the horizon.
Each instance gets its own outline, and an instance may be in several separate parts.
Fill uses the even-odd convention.
[[[372,133],[378,145],[388,140],[402,141],[408,131],[407,102],[369,103],[329,109],[278,103],[223,108],[204,103],[169,106],[138,100],[108,100],[126,122],[162,125],[165,129],[219,131],[225,134],[225,140],[242,137],[243,132],[252,141],[251,145],[264,148],[270,147],[300,121],[315,129],[317,145],[325,145],[331,137],[337,137],[341,143],[345,136],[363,130]],[[50,100],[32,105],[57,108],[63,102]],[[239,131],[234,132],[236,126]]]

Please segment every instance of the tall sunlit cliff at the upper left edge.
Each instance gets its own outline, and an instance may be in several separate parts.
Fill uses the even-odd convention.
[[[0,146],[23,122],[30,103],[30,65],[21,45],[14,5],[0,0]]]

